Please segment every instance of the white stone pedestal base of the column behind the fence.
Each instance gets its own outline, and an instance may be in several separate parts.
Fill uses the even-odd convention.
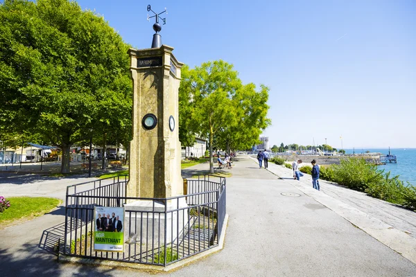
[[[155,247],[164,244],[165,230],[166,244],[171,244],[180,238],[189,221],[188,205],[184,197],[179,201],[169,200],[167,206],[152,200],[138,200],[125,204],[124,207],[125,238],[137,234],[137,243],[141,244],[153,244]]]

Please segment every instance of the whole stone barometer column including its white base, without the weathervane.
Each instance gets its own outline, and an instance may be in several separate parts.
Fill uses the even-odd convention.
[[[133,80],[130,181],[128,197],[167,198],[183,195],[178,132],[178,89],[182,63],[173,48],[130,49]],[[188,213],[185,198],[167,202],[141,199],[125,204],[125,232],[137,230],[141,243],[169,244],[182,233]],[[165,213],[168,211],[168,213]],[[166,226],[165,226],[166,224]],[[131,225],[131,226],[130,226]],[[165,238],[166,233],[166,238]],[[128,235],[128,234],[126,234]]]

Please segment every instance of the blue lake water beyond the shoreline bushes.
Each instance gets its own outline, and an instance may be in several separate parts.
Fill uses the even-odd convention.
[[[355,153],[365,153],[366,151],[379,152],[388,154],[388,149],[355,149]],[[352,149],[345,149],[347,154],[352,154]],[[413,186],[416,186],[416,148],[390,148],[390,153],[396,155],[397,163],[386,163],[379,166],[379,169],[390,171],[390,177],[399,175],[401,181],[408,181]]]

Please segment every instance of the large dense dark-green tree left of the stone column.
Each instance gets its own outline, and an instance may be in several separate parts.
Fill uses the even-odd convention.
[[[0,6],[0,125],[40,134],[62,149],[131,125],[128,45],[103,17],[74,1],[4,1]],[[128,115],[128,116],[126,116]],[[106,128],[105,128],[106,127]]]

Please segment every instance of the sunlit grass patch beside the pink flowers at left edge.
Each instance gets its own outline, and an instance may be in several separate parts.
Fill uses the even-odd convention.
[[[49,197],[8,197],[7,199],[10,201],[10,207],[0,213],[1,227],[44,215],[62,203],[60,199]]]

